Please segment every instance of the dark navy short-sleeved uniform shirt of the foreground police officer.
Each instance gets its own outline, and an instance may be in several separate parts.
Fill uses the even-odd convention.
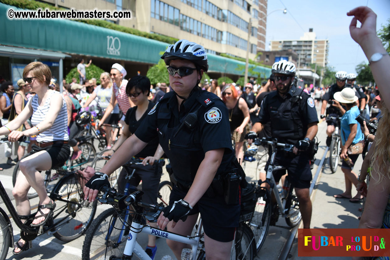
[[[195,126],[183,125],[184,118],[196,111]],[[217,175],[230,165],[234,153],[229,129],[229,114],[222,100],[195,87],[181,104],[180,111],[176,94],[173,91],[166,93],[148,113],[135,135],[143,142],[158,136],[177,181],[189,186],[207,151],[225,148]]]

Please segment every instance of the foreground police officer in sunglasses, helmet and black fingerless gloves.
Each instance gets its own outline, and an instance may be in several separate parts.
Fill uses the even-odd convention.
[[[207,259],[227,259],[240,211],[238,198],[227,205],[223,191],[216,189],[218,177],[234,167],[232,161],[237,161],[232,153],[228,111],[218,96],[198,87],[208,69],[207,54],[201,45],[177,41],[161,59],[168,65],[169,83],[174,91],[160,99],[135,134],[101,169],[102,173],[86,184],[85,199],[93,201],[99,187],[108,183],[106,175],[158,135],[177,179],[170,206],[160,215],[158,225],[161,229],[167,226],[170,232],[190,235],[199,212]],[[186,245],[171,240],[167,243],[180,259]]]

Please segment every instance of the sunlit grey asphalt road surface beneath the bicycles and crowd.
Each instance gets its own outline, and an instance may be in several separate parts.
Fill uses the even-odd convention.
[[[319,110],[319,107],[317,107]],[[319,114],[319,113],[318,113]],[[319,151],[316,155],[316,166],[312,170],[312,174],[317,171],[317,166],[319,161],[324,155],[325,151],[325,131],[326,131],[326,122],[319,123],[319,131],[317,137],[320,141]],[[15,158],[13,156],[12,158]],[[6,158],[4,157],[4,145],[0,146],[0,167],[4,168],[3,171],[0,171],[0,180],[4,185],[8,195],[13,200],[12,197],[12,172],[14,166],[9,166],[6,163]],[[356,162],[356,167],[360,168],[362,163],[362,158],[358,159]],[[251,162],[246,164],[246,173],[248,180],[257,180],[256,178],[256,166],[257,162]],[[359,171],[359,169],[356,169]],[[164,171],[165,172],[165,171]],[[161,180],[168,179],[166,173],[164,173]],[[340,167],[337,172],[332,174],[329,168],[328,155],[326,155],[326,160],[324,166],[321,170],[319,178],[317,180],[315,190],[312,193],[312,203],[313,203],[313,213],[312,213],[312,228],[355,228],[358,226],[358,208],[361,207],[361,203],[350,203],[346,199],[335,199],[333,194],[339,194],[344,191],[344,174],[342,173]],[[355,192],[353,192],[355,195]],[[37,205],[39,200],[37,198],[31,199],[31,205]],[[5,208],[3,203],[0,203],[0,207]],[[97,214],[102,212],[106,205],[98,206]],[[6,210],[7,211],[7,210]],[[96,214],[96,216],[97,216]],[[95,216],[95,217],[96,217]],[[13,221],[12,221],[13,223]],[[19,238],[20,230],[16,225],[13,225],[14,228],[14,239],[15,241]],[[280,218],[277,226],[271,226],[269,228],[268,236],[262,247],[259,255],[256,259],[278,259],[280,250],[285,244],[287,235],[290,229],[285,223],[285,220]],[[80,260],[82,253],[84,236],[73,240],[71,242],[65,243],[55,239],[53,236],[48,236],[46,234],[37,237],[33,241],[33,247],[28,251],[21,253],[18,256],[12,255],[12,248],[9,248],[9,253],[6,259],[26,259],[26,260],[37,260],[37,259],[67,259],[67,260]],[[147,244],[147,236],[140,234],[138,237],[138,242],[144,248]],[[158,251],[156,253],[156,260],[160,260],[162,256],[172,254],[170,249],[165,243],[164,239],[157,240]],[[292,259],[303,260],[306,258],[298,257],[296,251],[296,240],[294,241],[293,247],[291,249]],[[174,258],[175,259],[175,258]],[[318,257],[316,259],[325,259]],[[339,259],[339,258],[332,258]],[[340,258],[342,259],[342,258]]]

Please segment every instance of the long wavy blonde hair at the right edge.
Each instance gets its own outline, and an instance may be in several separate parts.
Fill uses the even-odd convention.
[[[379,179],[376,180],[380,183],[383,178],[390,179],[390,139],[388,134],[390,133],[390,113],[385,105],[385,102],[381,102],[381,119],[379,120],[378,129],[375,135],[375,147],[374,153],[371,157],[370,167],[371,169],[377,169]]]

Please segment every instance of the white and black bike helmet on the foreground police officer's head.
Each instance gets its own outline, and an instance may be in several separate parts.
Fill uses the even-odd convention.
[[[192,61],[198,65],[204,72],[207,71],[209,65],[207,64],[207,53],[202,45],[193,43],[187,40],[179,40],[176,43],[168,46],[165,53],[161,56],[161,59],[165,61],[165,64],[169,65],[169,62],[173,59],[186,59]]]

